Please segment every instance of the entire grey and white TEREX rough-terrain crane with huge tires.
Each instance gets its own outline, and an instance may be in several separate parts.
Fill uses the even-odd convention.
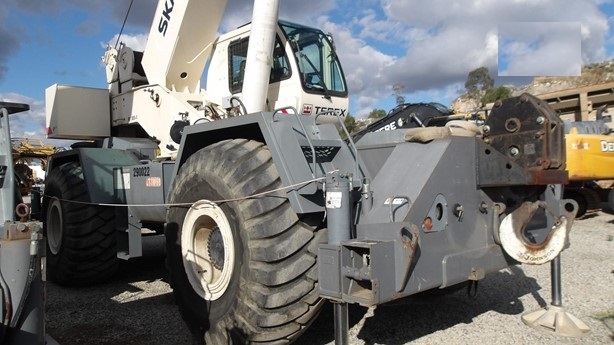
[[[49,162],[51,279],[108,279],[117,258],[141,254],[146,228],[166,236],[176,302],[207,344],[291,342],[324,299],[343,343],[347,303],[564,249],[577,205],[561,199],[563,128],[547,106],[510,99],[483,135],[345,142],[328,35],[255,1],[250,25],[216,39],[222,3],[161,0],[142,55],[105,53],[108,90],[47,89],[49,137],[94,140]]]

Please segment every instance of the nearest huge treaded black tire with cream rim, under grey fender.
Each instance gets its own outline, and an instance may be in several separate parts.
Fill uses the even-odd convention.
[[[169,203],[240,199],[280,186],[266,146],[226,140],[186,161]],[[167,265],[176,303],[194,334],[213,345],[297,338],[323,303],[316,251],[326,233],[318,228],[319,216],[299,219],[285,192],[171,206]]]

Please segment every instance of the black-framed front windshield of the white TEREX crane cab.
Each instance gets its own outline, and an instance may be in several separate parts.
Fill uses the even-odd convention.
[[[307,92],[345,96],[347,90],[337,54],[320,30],[280,22],[294,51],[301,83]]]

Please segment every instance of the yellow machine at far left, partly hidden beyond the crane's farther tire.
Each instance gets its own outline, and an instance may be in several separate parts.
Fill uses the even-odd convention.
[[[15,138],[11,139],[13,165],[15,178],[22,196],[29,195],[36,183],[42,182],[44,176],[37,176],[31,165],[35,160],[40,161],[43,171],[47,167],[47,158],[58,152],[53,145],[44,144],[38,139]]]

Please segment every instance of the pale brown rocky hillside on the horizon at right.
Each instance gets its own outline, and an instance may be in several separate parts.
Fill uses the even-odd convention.
[[[523,92],[540,95],[576,87],[601,84],[614,80],[614,60],[593,63],[582,67],[582,74],[577,77],[535,77],[531,84],[521,87],[507,86],[512,95]],[[477,101],[469,99],[466,94],[455,99],[450,107],[457,112],[471,112],[479,108]]]

